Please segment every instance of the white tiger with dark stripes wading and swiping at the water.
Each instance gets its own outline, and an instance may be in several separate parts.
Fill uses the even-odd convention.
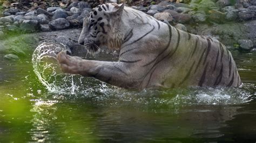
[[[117,62],[58,54],[65,73],[124,88],[241,84],[231,53],[218,40],[180,31],[124,4],[102,4],[84,19],[79,43],[89,51],[120,49]]]

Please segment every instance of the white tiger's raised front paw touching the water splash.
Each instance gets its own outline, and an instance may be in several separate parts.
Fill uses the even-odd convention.
[[[67,55],[65,51],[58,53],[57,59],[60,65],[60,68],[64,73],[68,74],[79,74],[78,63],[80,59],[78,57],[72,57]]]

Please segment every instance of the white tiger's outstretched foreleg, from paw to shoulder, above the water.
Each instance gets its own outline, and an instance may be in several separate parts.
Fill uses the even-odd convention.
[[[60,68],[64,73],[95,77],[100,81],[124,88],[138,88],[139,81],[132,78],[129,68],[122,62],[84,60],[60,52],[57,56]]]

